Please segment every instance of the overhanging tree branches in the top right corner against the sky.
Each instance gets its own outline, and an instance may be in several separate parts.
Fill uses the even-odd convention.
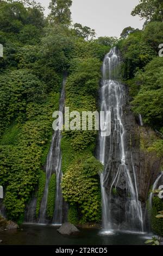
[[[139,15],[146,21],[163,21],[162,0],[140,0],[131,15]]]

